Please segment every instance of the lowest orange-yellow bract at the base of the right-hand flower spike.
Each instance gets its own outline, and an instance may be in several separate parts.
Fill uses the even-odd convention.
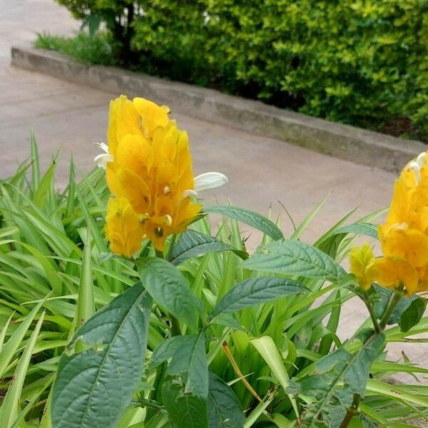
[[[406,260],[384,257],[376,260],[376,266],[379,285],[392,290],[402,285],[407,295],[419,291],[417,270]]]

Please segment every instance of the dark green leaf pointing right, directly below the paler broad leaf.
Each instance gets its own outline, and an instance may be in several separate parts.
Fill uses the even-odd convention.
[[[294,280],[280,277],[254,277],[235,285],[218,302],[210,319],[253,305],[307,292],[307,288]]]

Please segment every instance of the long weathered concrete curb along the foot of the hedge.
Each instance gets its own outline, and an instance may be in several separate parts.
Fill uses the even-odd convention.
[[[228,96],[218,91],[134,73],[86,66],[54,51],[12,47],[11,65],[128,97],[144,96],[193,118],[277,138],[362,165],[397,172],[427,146],[353,126]]]

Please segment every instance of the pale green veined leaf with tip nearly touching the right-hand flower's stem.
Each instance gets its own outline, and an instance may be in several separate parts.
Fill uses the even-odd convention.
[[[327,254],[297,240],[266,245],[245,260],[243,267],[263,272],[302,275],[336,282],[345,270]]]

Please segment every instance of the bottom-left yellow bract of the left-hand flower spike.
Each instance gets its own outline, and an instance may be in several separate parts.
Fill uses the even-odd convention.
[[[110,198],[107,205],[106,238],[113,253],[131,258],[141,247],[145,227],[125,198]]]

